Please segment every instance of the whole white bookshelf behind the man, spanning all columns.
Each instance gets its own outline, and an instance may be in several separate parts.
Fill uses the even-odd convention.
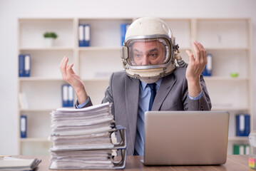
[[[135,19],[19,19],[18,54],[31,55],[31,77],[18,77],[18,92],[26,94],[28,108],[18,115],[27,115],[27,138],[19,136],[21,155],[48,155],[51,142],[51,110],[61,108],[59,63],[68,56],[75,72],[81,76],[93,104],[101,103],[113,71],[123,70],[120,47],[120,25]],[[230,112],[228,154],[232,145],[246,143],[247,138],[235,136],[235,115],[251,114],[252,130],[252,24],[250,19],[163,19],[172,29],[180,54],[188,62],[185,50],[193,51],[191,43],[198,40],[213,54],[213,76],[205,77],[213,110]],[[91,25],[91,46],[78,46],[78,24]],[[43,33],[55,31],[58,38],[53,47],[46,47]],[[19,66],[18,66],[19,68]],[[230,72],[237,72],[231,78]],[[76,97],[74,97],[76,101]],[[19,120],[17,121],[19,123]]]

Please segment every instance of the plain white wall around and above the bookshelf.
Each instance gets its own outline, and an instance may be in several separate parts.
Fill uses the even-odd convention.
[[[18,75],[16,27],[18,18],[139,16],[251,18],[254,32],[253,44],[255,45],[255,7],[256,1],[254,0],[0,0],[0,155],[18,153],[18,128],[16,128]],[[256,48],[253,56],[256,57]],[[253,70],[255,73],[255,68]],[[256,75],[254,76],[254,89],[256,89],[255,83]],[[254,92],[253,96],[256,97],[256,91]]]

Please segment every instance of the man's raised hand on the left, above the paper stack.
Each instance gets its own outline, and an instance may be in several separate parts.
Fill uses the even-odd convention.
[[[64,81],[68,82],[76,91],[76,96],[78,98],[78,104],[84,103],[88,99],[86,89],[82,79],[76,75],[72,69],[73,63],[68,65],[68,57],[64,56],[60,64],[61,75]]]

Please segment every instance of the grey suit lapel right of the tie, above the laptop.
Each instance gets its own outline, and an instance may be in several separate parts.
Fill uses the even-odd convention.
[[[158,88],[158,93],[156,93],[155,95],[152,110],[160,109],[161,105],[163,104],[163,101],[165,100],[170,90],[173,88],[175,82],[176,80],[173,74],[163,77],[160,87]]]

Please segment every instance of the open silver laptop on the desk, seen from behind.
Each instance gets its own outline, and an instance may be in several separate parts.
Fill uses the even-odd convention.
[[[145,112],[144,165],[222,165],[227,111]]]

